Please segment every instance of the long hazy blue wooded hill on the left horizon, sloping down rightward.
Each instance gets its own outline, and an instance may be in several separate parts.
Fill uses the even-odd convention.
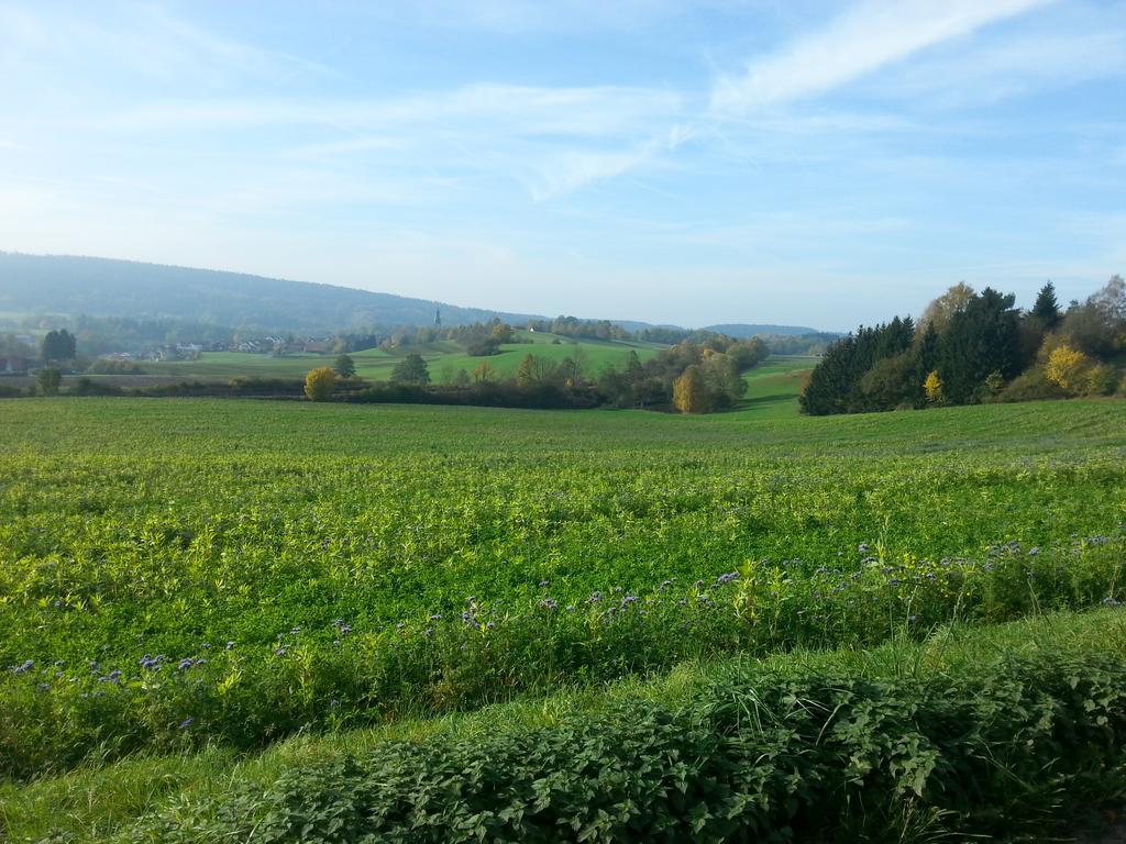
[[[0,312],[171,317],[232,327],[338,331],[446,325],[527,314],[457,307],[350,287],[72,255],[0,252]]]

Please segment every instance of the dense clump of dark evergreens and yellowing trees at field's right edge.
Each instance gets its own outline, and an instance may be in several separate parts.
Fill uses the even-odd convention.
[[[894,317],[830,345],[801,407],[810,415],[1126,392],[1126,284],[1118,276],[1061,308],[1049,281],[1031,308],[965,284],[919,323]]]

